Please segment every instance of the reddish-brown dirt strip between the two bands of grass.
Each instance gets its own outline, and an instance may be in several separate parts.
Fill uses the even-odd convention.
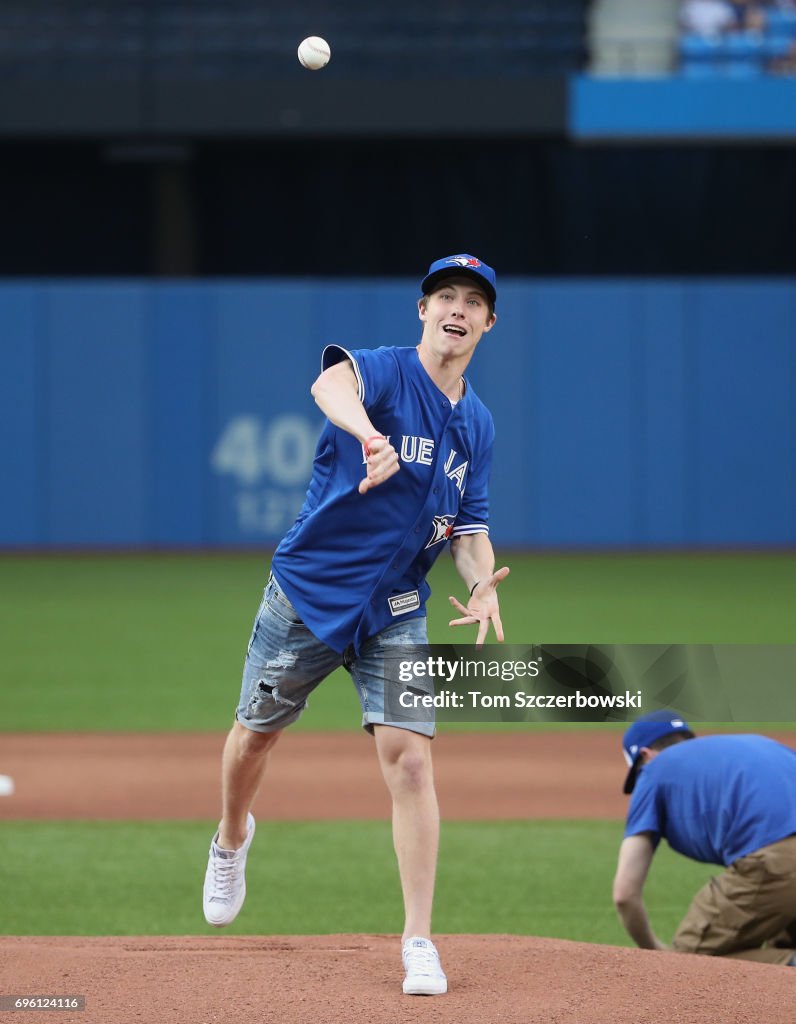
[[[222,745],[217,734],[0,734],[0,772],[16,786],[0,800],[0,819],[212,819]],[[444,734],[434,764],[450,820],[625,812],[616,733]],[[389,817],[373,740],[359,732],[286,734],[254,809],[283,820]]]

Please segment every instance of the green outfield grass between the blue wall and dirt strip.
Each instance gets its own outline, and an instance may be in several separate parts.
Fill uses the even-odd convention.
[[[514,643],[793,643],[796,555],[529,555],[501,588]],[[0,732],[217,730],[237,702],[268,556],[59,555],[0,560]],[[451,560],[431,577],[449,629]],[[296,728],[355,729],[343,672]]]

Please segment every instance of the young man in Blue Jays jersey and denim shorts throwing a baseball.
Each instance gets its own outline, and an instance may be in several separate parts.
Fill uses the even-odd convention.
[[[469,594],[451,597],[452,626],[490,624],[503,640],[489,539],[494,425],[464,378],[495,325],[495,272],[457,255],[423,280],[417,347],[324,350],[312,395],[327,417],[306,501],[274,556],[222,762],[222,817],[204,891],[207,921],[228,925],[246,894],[250,808],[269,751],[306,698],[344,666],[357,686],[392,799],[406,912],[404,992],[448,990],[430,940],[439,812],[431,768],[434,724],[390,721],[384,654],[426,642],[426,575],[451,542]],[[385,714],[387,713],[387,714]]]

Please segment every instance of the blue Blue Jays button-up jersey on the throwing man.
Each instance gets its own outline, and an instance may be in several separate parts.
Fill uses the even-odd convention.
[[[452,404],[412,348],[328,346],[322,369],[349,359],[360,400],[401,468],[365,495],[362,444],[327,421],[306,500],[273,571],[305,625],[342,652],[425,614],[426,575],[452,537],[489,532],[495,427],[467,383]]]

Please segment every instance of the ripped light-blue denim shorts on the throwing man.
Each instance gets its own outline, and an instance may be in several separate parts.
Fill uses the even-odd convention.
[[[284,729],[299,718],[312,690],[344,666],[357,687],[365,729],[373,732],[374,725],[392,725],[433,736],[432,711],[426,709],[414,720],[412,715],[404,714],[399,720],[392,712],[385,720],[384,714],[385,688],[401,688],[399,683],[387,680],[385,652],[389,654],[390,646],[408,649],[425,643],[425,617],[409,618],[371,637],[358,656],[352,648],[338,654],[310,633],[270,577],[249,639],[236,719],[254,732]],[[389,691],[386,702],[389,708],[395,706]]]

